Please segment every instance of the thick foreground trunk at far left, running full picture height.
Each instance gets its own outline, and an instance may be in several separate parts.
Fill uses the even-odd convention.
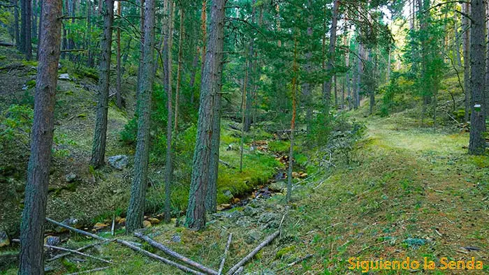
[[[50,175],[54,105],[61,37],[61,0],[43,1],[39,66],[34,97],[31,156],[20,226],[19,274],[44,274],[44,222]]]

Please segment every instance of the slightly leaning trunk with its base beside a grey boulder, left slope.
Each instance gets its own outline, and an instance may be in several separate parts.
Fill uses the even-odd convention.
[[[90,165],[101,168],[105,161],[107,140],[107,114],[109,108],[110,55],[112,53],[112,22],[114,20],[114,1],[105,0],[103,11],[103,36],[101,39],[100,75],[98,77],[98,103],[94,131],[94,145]]]

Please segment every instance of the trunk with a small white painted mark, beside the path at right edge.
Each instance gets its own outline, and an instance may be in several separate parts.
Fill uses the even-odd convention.
[[[486,151],[486,113],[484,101],[486,73],[486,1],[472,0],[472,30],[470,32],[471,78],[472,89],[470,114],[469,154],[483,155]]]

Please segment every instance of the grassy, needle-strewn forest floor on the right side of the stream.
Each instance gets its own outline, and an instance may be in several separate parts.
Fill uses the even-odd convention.
[[[418,121],[409,117],[400,113],[365,119],[367,136],[358,142],[351,164],[337,165],[296,184],[290,205],[278,192],[210,215],[203,232],[161,224],[145,229],[145,234],[218,269],[232,232],[227,270],[280,227],[281,235],[246,265],[245,273],[250,274],[360,274],[361,269],[349,269],[349,258],[356,257],[399,261],[409,257],[421,262],[420,269],[425,258],[440,267],[444,257],[465,261],[474,257],[483,261],[484,270],[421,272],[487,274],[489,158],[467,155],[467,133],[435,133],[432,128],[419,128]],[[116,237],[138,240],[122,231]],[[72,237],[66,246],[87,242],[85,237]],[[143,248],[159,253],[147,244]],[[114,262],[101,274],[181,274],[115,243],[88,252]],[[312,258],[286,267],[308,254]],[[61,270],[53,274],[63,274],[103,265],[66,258],[49,266]],[[416,269],[379,274],[412,272]]]

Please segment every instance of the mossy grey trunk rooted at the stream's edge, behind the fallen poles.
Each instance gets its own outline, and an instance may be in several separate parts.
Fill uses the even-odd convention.
[[[143,52],[142,77],[138,87],[138,135],[136,156],[134,157],[133,185],[131,200],[127,209],[126,231],[133,232],[143,227],[145,195],[147,189],[147,167],[149,163],[149,118],[151,115],[151,94],[154,80],[154,0],[146,0],[145,43]]]

